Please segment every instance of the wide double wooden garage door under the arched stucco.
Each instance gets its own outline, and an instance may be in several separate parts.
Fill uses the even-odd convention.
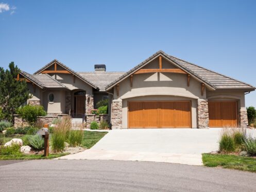
[[[129,101],[129,128],[191,128],[190,101]]]

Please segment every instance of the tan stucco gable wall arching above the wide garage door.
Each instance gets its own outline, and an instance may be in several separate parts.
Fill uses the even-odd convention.
[[[153,73],[133,75],[132,87],[130,78],[120,82],[119,96],[114,89],[114,99],[126,99],[131,97],[149,95],[172,95],[188,98],[206,98],[206,91],[201,96],[201,83],[191,78],[190,86],[187,86],[185,74]]]

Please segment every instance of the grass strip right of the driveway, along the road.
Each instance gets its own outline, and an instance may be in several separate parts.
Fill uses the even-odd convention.
[[[256,172],[256,159],[231,154],[202,154],[203,165]]]

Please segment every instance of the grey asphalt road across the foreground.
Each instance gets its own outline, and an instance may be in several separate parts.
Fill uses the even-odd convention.
[[[170,163],[35,160],[0,166],[0,191],[256,191],[256,174]]]

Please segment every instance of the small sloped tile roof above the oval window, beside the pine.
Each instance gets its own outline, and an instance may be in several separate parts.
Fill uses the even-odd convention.
[[[21,71],[20,74],[22,74],[24,77],[26,77],[31,82],[37,84],[42,89],[43,88],[67,89],[66,86],[61,84],[56,79],[50,77],[48,74],[31,75],[24,71]]]

